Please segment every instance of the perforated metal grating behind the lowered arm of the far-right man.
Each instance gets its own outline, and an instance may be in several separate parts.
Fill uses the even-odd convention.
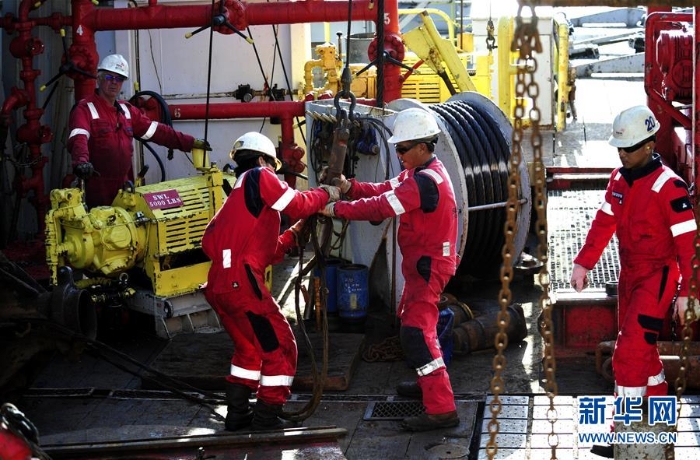
[[[571,289],[569,278],[576,254],[586,241],[604,190],[550,190],[547,194],[547,225],[549,233],[549,271],[551,289]],[[617,237],[603,251],[590,271],[590,288],[605,289],[606,283],[617,282],[620,258]]]

